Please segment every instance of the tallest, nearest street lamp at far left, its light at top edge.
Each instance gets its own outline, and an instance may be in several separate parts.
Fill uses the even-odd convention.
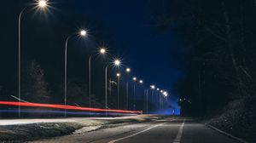
[[[39,0],[38,1],[38,3],[37,3],[37,7],[38,8],[41,8],[41,9],[45,9],[46,7],[47,7],[47,1],[45,1],[45,0]],[[18,54],[19,54],[19,57],[18,57],[18,59],[19,59],[19,62],[18,62],[18,68],[19,68],[19,70],[18,70],[18,96],[19,96],[19,99],[21,99],[21,97],[20,97],[20,87],[21,87],[21,85],[20,85],[20,81],[21,81],[21,66],[20,66],[20,63],[21,63],[21,49],[20,49],[20,43],[21,43],[21,17],[22,17],[22,14],[24,13],[24,11],[27,9],[27,7],[25,7],[24,9],[22,9],[21,11],[20,11],[20,14],[19,14],[19,49],[18,49]],[[19,117],[20,117],[20,100],[19,100]]]

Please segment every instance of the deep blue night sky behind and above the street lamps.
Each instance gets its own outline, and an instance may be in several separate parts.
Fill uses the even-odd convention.
[[[16,82],[18,15],[31,2],[8,0],[1,3],[0,63],[1,79],[5,83]],[[175,93],[173,84],[183,77],[183,40],[171,28],[159,31],[152,23],[154,10],[160,9],[160,4],[154,5],[150,0],[49,2],[51,8],[47,13],[36,14],[34,9],[29,9],[24,14],[23,60],[38,60],[46,72],[50,68],[61,69],[65,38],[85,26],[90,37],[85,41],[73,38],[70,42],[70,68],[79,70],[84,59],[96,51],[92,47],[104,45],[114,56],[121,57],[125,66],[131,67],[132,75],[143,78],[148,85],[153,83],[168,89],[171,96]],[[57,72],[62,71],[56,70],[55,75]]]

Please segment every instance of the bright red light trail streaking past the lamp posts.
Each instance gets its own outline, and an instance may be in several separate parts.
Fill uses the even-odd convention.
[[[12,101],[0,101],[0,105],[3,106],[37,106],[55,109],[66,109],[66,110],[79,110],[88,112],[119,112],[119,113],[137,113],[142,114],[139,111],[125,111],[125,110],[115,110],[115,109],[99,109],[99,108],[89,108],[89,107],[79,107],[79,106],[64,106],[64,105],[54,105],[54,104],[41,104],[41,103],[31,103],[31,102],[12,102]]]

